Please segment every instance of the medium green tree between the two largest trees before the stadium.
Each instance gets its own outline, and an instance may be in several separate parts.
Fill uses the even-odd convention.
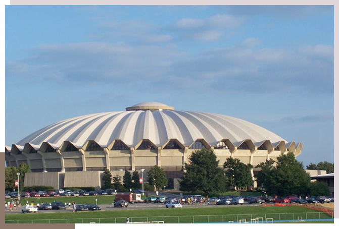
[[[226,169],[226,181],[233,188],[246,189],[249,186],[253,186],[251,164],[245,164],[240,162],[238,158],[229,157],[224,163]]]

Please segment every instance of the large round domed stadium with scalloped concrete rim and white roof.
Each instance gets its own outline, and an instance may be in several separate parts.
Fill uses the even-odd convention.
[[[8,166],[30,166],[25,186],[100,187],[106,168],[121,176],[124,170],[147,171],[158,165],[167,174],[169,188],[176,188],[184,162],[202,148],[214,149],[220,167],[228,157],[255,166],[288,151],[297,156],[303,144],[237,118],[143,102],[126,111],[75,117],[42,128],[5,146],[5,160]]]

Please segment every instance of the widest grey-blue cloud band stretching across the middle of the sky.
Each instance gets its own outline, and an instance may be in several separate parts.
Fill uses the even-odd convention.
[[[173,44],[45,44],[33,49],[29,58],[5,64],[5,75],[133,87],[148,82],[171,90],[201,87],[253,93],[333,93],[332,46],[258,49],[259,42],[250,38],[198,55],[181,52]]]

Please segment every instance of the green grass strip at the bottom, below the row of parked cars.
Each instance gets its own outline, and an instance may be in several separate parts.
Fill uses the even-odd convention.
[[[124,223],[128,216],[132,221],[165,221],[166,223],[175,222],[221,222],[238,219],[251,220],[254,217],[273,218],[273,220],[284,219],[298,219],[298,217],[306,218],[305,212],[308,213],[308,218],[331,218],[326,213],[319,213],[317,211],[299,207],[262,207],[262,206],[240,206],[240,207],[204,207],[204,208],[181,208],[181,209],[140,209],[140,210],[119,210],[119,211],[101,211],[101,212],[59,212],[59,213],[42,213],[42,214],[9,214],[5,215],[6,220],[27,220],[21,221],[30,223],[31,220],[40,219],[41,221],[34,221],[35,223],[80,223],[80,219],[86,221],[98,221],[101,218],[101,223]],[[279,215],[280,213],[280,215]],[[236,214],[239,214],[236,216]],[[266,215],[265,215],[266,214]],[[192,216],[195,217],[192,217]],[[209,215],[209,217],[207,217]],[[197,217],[198,216],[198,217]],[[116,219],[114,219],[116,218]],[[117,219],[118,218],[118,219]],[[194,219],[193,219],[194,218]],[[42,220],[45,219],[45,220]],[[60,220],[59,220],[60,219]],[[63,219],[63,220],[61,220]],[[68,219],[66,221],[65,219]],[[86,220],[88,219],[88,220]],[[7,221],[10,222],[10,221]]]

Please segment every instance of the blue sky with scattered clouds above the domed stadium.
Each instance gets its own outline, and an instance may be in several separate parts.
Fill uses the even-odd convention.
[[[5,144],[158,101],[333,158],[332,6],[5,6]]]

